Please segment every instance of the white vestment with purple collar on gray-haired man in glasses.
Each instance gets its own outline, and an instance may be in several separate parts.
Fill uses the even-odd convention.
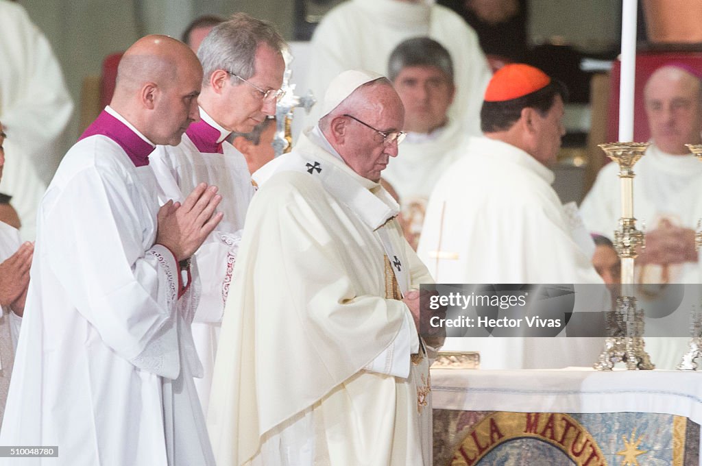
[[[206,413],[222,314],[254,189],[246,159],[225,140],[230,132],[203,109],[200,118],[187,128],[178,146],[158,146],[149,160],[159,182],[161,204],[168,199],[183,201],[201,182],[215,185],[222,194],[217,210],[224,217],[195,253],[201,295],[192,335],[204,369],[195,387]]]

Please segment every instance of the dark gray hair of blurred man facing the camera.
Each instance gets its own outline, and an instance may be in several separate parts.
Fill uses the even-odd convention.
[[[434,39],[414,37],[400,42],[388,59],[388,77],[395,81],[405,67],[435,67],[453,83],[453,61],[449,51]]]

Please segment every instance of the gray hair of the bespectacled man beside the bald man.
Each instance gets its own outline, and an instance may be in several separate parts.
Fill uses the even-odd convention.
[[[197,51],[203,69],[203,87],[209,85],[210,76],[218,69],[236,73],[244,79],[256,74],[256,50],[261,44],[276,51],[286,47],[271,22],[252,18],[246,13],[234,13],[216,25]],[[232,79],[236,78],[232,76]]]

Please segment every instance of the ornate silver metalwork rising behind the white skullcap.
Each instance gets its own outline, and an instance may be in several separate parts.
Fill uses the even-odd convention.
[[[290,77],[293,70],[290,64],[293,61],[293,55],[288,51],[283,52],[285,59],[285,73],[283,74],[283,85],[280,87],[285,91],[283,98],[279,100],[275,106],[275,138],[273,139],[273,149],[275,157],[281,154],[290,152],[293,148],[293,135],[291,124],[293,121],[293,109],[296,107],[304,108],[305,112],[310,113],[312,106],[317,103],[314,99],[312,91],[307,91],[303,97],[295,95],[296,84],[290,84]]]

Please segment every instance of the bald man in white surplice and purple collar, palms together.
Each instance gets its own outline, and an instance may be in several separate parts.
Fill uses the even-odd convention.
[[[192,383],[190,257],[221,197],[202,183],[159,208],[148,167],[199,118],[201,80],[182,42],[138,40],[47,189],[0,444],[58,458],[21,464],[214,465]]]

